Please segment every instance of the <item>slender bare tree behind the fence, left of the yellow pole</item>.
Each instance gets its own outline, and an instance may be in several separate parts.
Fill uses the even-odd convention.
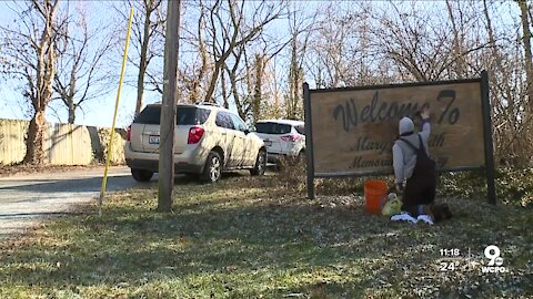
[[[103,28],[90,32],[86,11],[72,16],[63,27],[58,40],[58,66],[54,74],[53,90],[58,99],[67,106],[68,123],[73,124],[76,112],[82,110],[87,102],[98,99],[111,89],[109,69],[103,60],[112,42],[104,35]],[[74,21],[73,18],[78,20]],[[98,40],[100,38],[100,40]],[[99,45],[97,45],[99,42]]]

